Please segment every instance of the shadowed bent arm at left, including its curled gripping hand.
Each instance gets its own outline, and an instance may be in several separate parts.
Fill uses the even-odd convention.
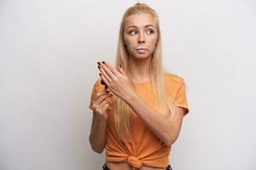
[[[106,144],[106,126],[108,120],[108,100],[110,94],[106,91],[96,94],[93,101],[93,118],[90,128],[90,146],[91,149],[101,154]]]

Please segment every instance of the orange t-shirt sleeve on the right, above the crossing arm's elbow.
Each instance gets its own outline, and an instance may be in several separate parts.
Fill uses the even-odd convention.
[[[189,113],[189,105],[186,97],[185,82],[183,79],[181,80],[181,82],[178,83],[177,94],[174,99],[174,105],[177,105],[178,107],[182,107],[184,109],[184,116]]]

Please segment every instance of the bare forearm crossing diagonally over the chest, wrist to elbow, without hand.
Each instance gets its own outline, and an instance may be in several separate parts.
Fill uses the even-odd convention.
[[[158,111],[149,107],[137,94],[126,99],[126,103],[130,105],[131,109],[158,139],[166,145],[171,145],[175,142],[180,130],[175,123],[166,120]]]

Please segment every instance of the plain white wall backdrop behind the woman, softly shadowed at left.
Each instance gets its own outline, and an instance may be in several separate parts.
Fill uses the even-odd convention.
[[[141,1],[160,17],[165,68],[187,83],[174,170],[256,169],[256,1]],[[88,108],[137,1],[0,1],[0,169],[99,170]]]

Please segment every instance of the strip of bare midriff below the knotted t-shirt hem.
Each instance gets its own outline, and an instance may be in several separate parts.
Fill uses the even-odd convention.
[[[106,163],[110,170],[131,170],[128,162],[107,162]],[[156,167],[141,167],[139,170],[165,170],[166,168],[156,168]]]

